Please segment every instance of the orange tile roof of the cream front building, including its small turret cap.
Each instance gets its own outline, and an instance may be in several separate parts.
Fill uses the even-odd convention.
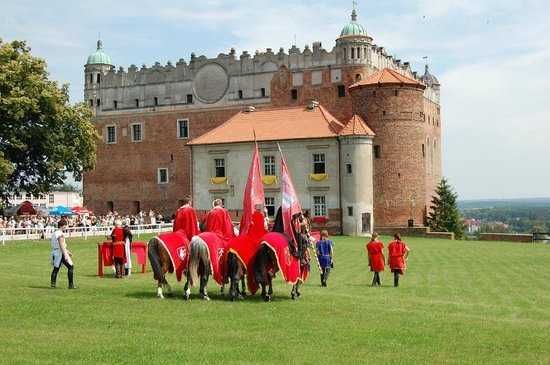
[[[349,124],[349,123],[348,123]],[[371,135],[372,131],[361,120],[354,124],[352,132]],[[254,141],[282,141],[294,139],[337,137],[346,129],[323,106],[313,109],[305,106],[265,108],[252,112],[240,112],[222,125],[190,141],[189,145],[222,144]]]

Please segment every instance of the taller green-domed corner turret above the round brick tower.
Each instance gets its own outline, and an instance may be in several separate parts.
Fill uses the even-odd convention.
[[[342,28],[336,39],[337,62],[349,65],[370,64],[370,46],[372,38],[365,27],[357,22],[357,10],[351,12],[351,21]]]

